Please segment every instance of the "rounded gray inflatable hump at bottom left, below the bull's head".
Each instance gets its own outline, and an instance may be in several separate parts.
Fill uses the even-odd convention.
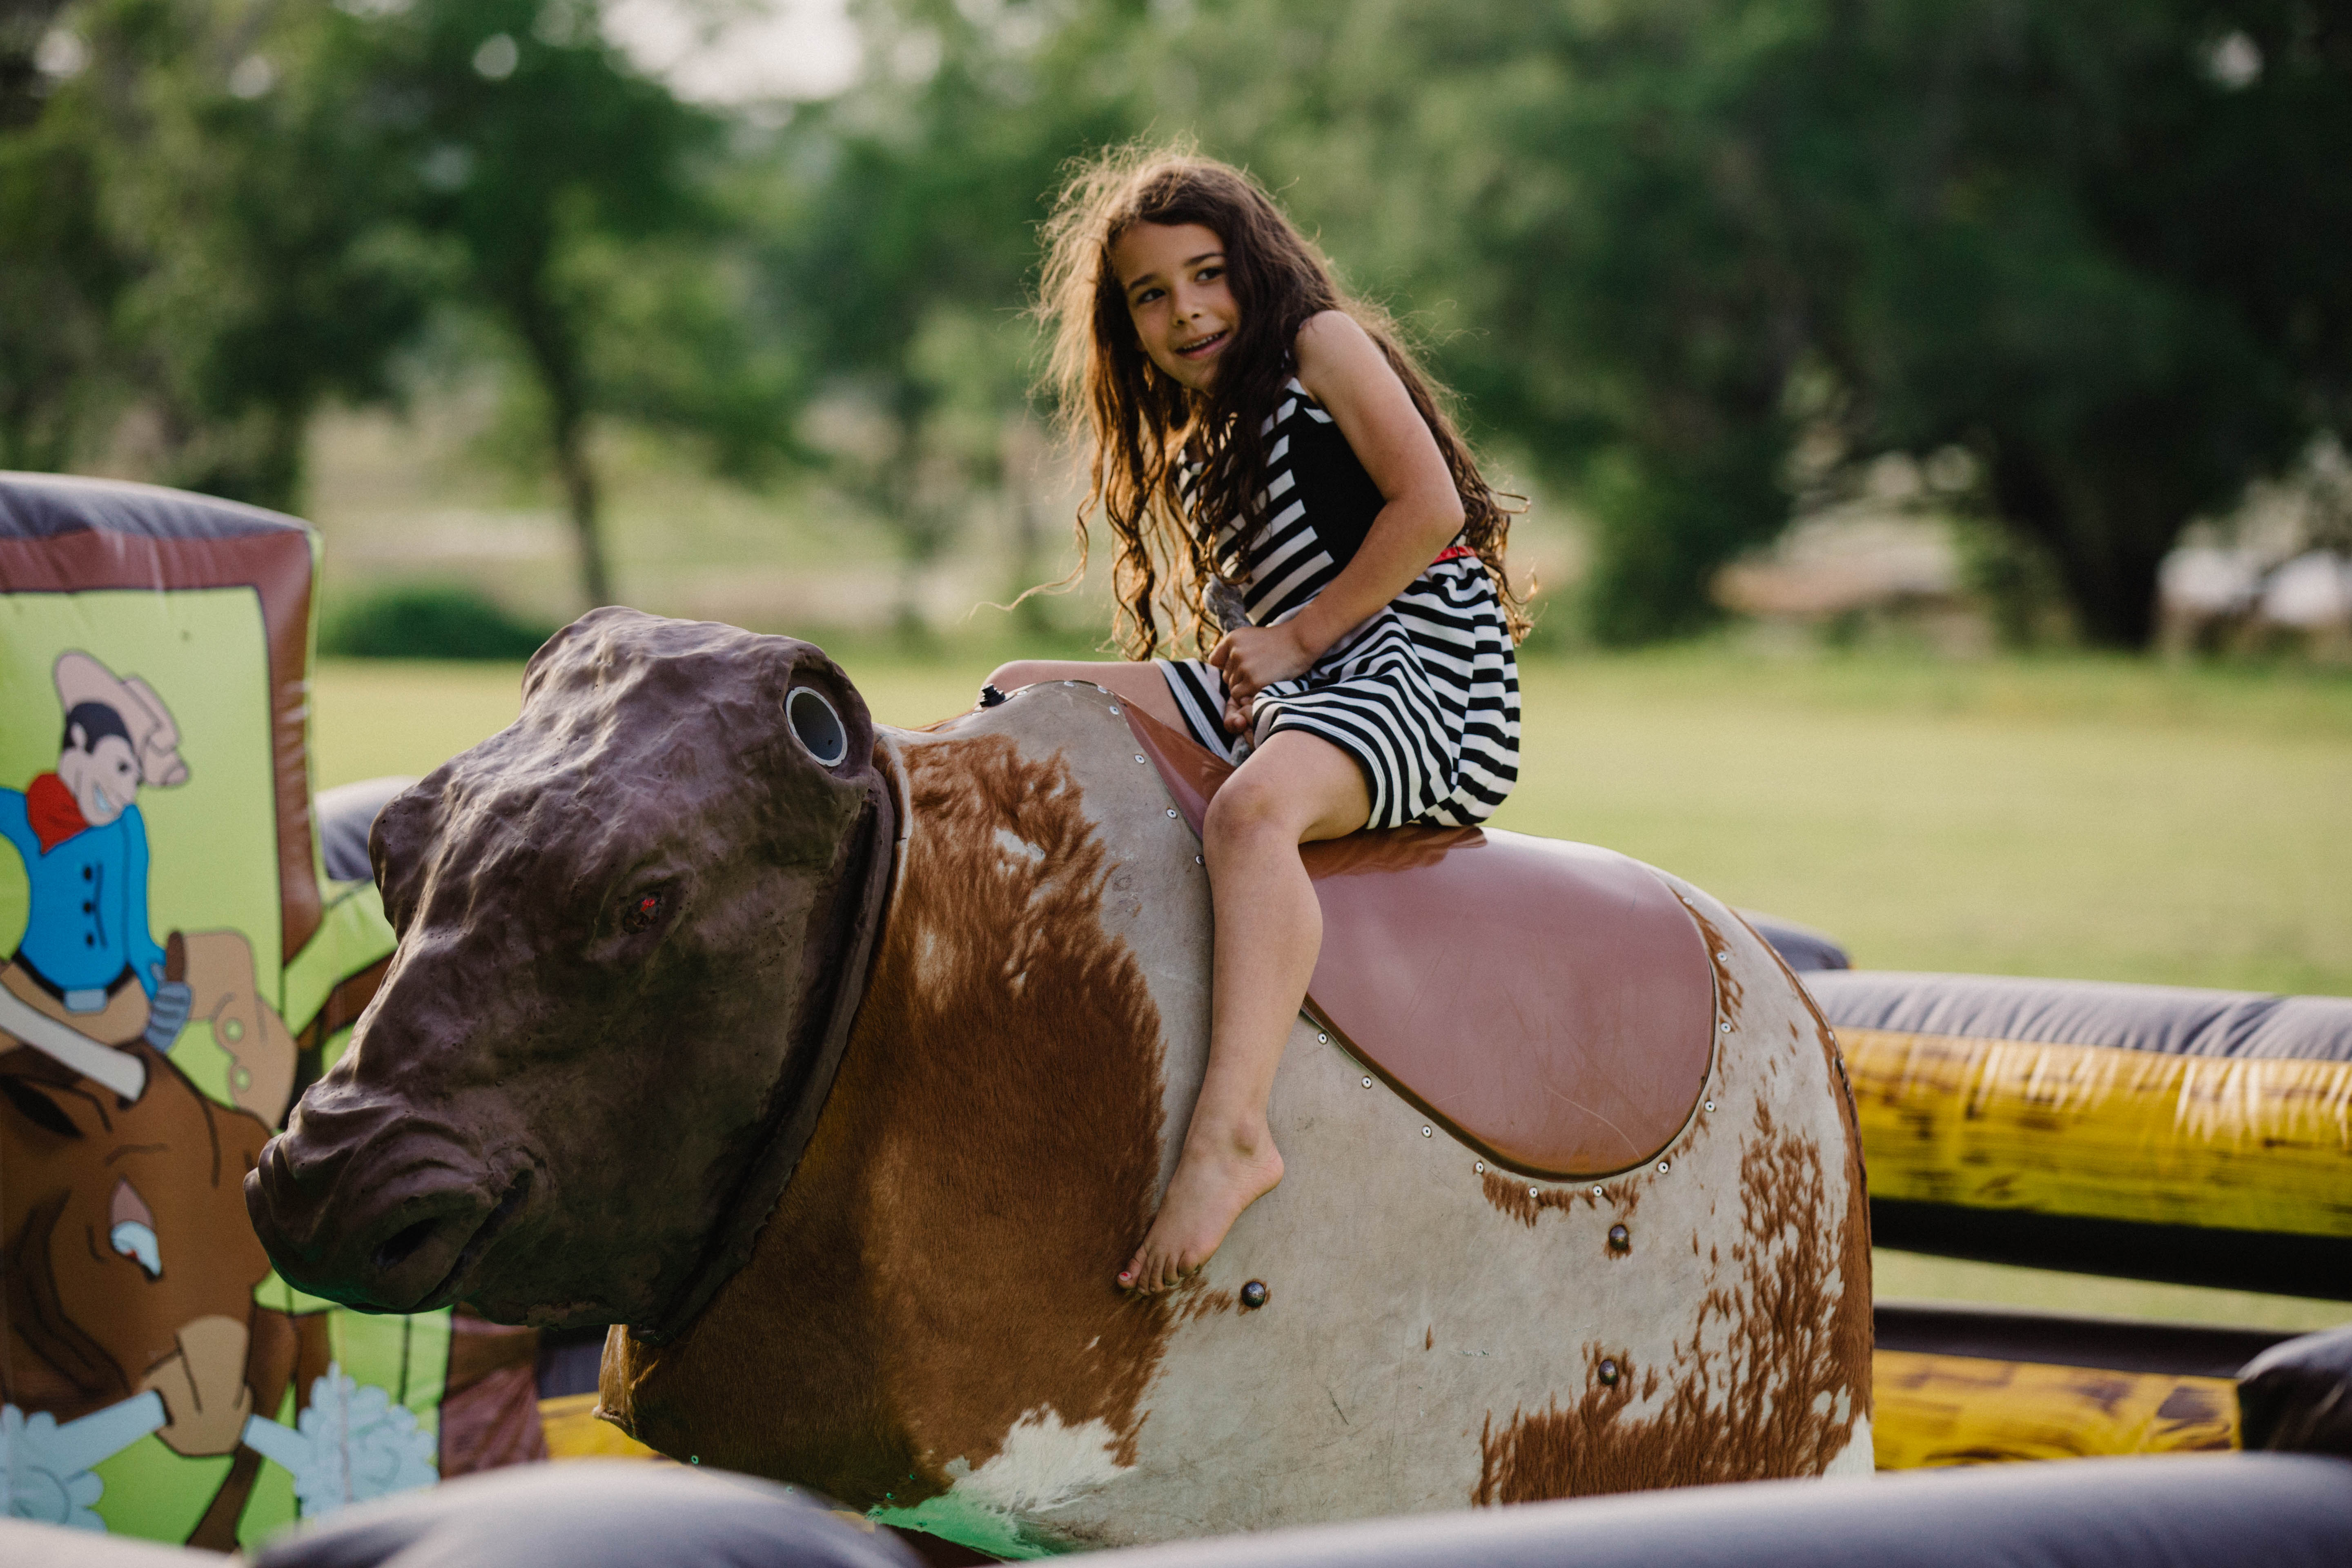
[[[644,1460],[517,1465],[365,1502],[256,1568],[920,1568],[896,1540],[769,1481]]]

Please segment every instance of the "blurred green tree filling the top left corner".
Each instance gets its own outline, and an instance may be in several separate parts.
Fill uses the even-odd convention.
[[[388,221],[353,24],[87,0],[0,127],[7,461],[66,465],[132,404],[155,477],[292,505],[322,397],[386,395],[430,261]]]

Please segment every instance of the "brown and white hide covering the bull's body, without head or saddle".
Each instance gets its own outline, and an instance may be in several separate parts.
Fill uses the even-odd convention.
[[[1127,1298],[1209,1044],[1200,844],[1094,686],[882,745],[898,882],[816,1138],[687,1335],[614,1331],[607,1415],[997,1552],[1870,1469],[1842,1067],[1722,903],[1668,879],[1717,1063],[1661,1159],[1482,1166],[1301,1020],[1282,1187]]]

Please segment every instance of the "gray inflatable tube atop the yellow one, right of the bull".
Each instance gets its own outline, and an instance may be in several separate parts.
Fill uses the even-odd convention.
[[[1973,1034],[2169,1056],[2352,1060],[2352,997],[2265,997],[2180,985],[1919,976],[1893,969],[1811,973],[1832,1027]]]

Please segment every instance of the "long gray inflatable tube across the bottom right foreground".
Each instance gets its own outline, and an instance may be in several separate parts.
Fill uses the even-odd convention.
[[[1757,1481],[1105,1552],[1101,1568],[2343,1568],[2352,1465],[2065,1460]]]

